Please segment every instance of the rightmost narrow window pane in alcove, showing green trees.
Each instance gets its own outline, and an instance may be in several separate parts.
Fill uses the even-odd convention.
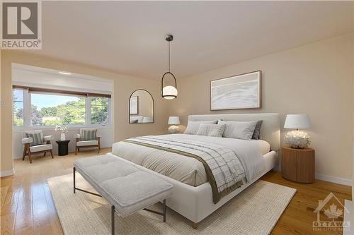
[[[91,103],[91,124],[108,123],[108,98],[89,97]]]

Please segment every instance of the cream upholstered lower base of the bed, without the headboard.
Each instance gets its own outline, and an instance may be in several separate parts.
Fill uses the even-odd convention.
[[[108,153],[108,155],[113,155],[112,153]],[[116,156],[116,155],[113,155]],[[119,157],[119,156],[116,156]],[[212,187],[210,183],[203,183],[198,187],[189,186],[188,184],[181,183],[180,181],[176,181],[168,176],[164,176],[159,174],[155,171],[142,167],[138,164],[132,163],[126,159],[122,159],[129,164],[138,167],[144,171],[148,171],[152,174],[156,174],[157,176],[169,181],[174,185],[173,193],[170,198],[166,199],[166,205],[173,209],[174,211],[178,212],[179,214],[183,215],[187,219],[190,219],[192,222],[198,223],[205,219],[208,215],[212,214],[217,208],[221,207],[225,203],[227,203],[230,199],[234,198],[235,195],[244,191],[245,188],[251,185],[251,183],[255,182],[265,173],[273,169],[277,162],[278,162],[278,155],[277,152],[271,151],[267,154],[263,155],[265,161],[265,171],[260,174],[256,179],[254,179],[250,183],[244,183],[243,186],[237,188],[232,193],[224,196],[217,204],[212,202]]]

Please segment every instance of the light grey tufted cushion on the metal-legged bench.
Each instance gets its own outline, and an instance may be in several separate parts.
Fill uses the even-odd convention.
[[[74,167],[123,217],[164,200],[172,193],[171,183],[119,157],[83,158],[74,162]]]

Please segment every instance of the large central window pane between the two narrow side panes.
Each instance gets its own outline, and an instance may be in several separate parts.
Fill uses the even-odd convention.
[[[85,124],[86,97],[31,93],[30,101],[32,125]]]

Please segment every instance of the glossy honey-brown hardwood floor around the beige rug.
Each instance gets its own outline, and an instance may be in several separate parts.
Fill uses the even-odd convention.
[[[105,152],[110,152],[110,148],[101,150],[101,154]],[[3,177],[0,181],[1,234],[63,234],[47,179],[71,174],[76,159],[92,155],[97,155],[96,150],[54,159],[35,157],[32,164],[27,158],[16,160],[15,176]],[[312,231],[312,221],[316,220],[313,210],[330,192],[341,203],[350,199],[350,187],[319,180],[311,184],[295,183],[282,179],[278,171],[270,171],[262,179],[297,189],[272,234],[341,234],[340,231]]]

